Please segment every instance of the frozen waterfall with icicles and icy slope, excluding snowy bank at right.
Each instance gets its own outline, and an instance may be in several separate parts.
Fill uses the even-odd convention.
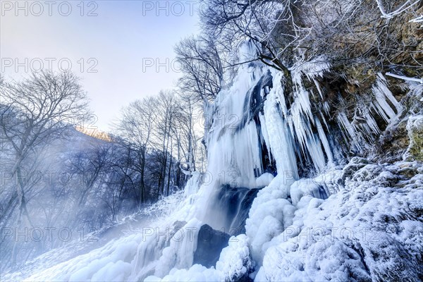
[[[245,56],[254,52],[248,44],[241,51]],[[316,173],[324,176],[341,158],[329,134],[333,128],[326,120],[324,89],[316,80],[330,67],[324,58],[294,65],[293,95],[288,97],[283,73],[259,62],[240,66],[231,87],[206,107],[208,170],[193,174],[182,200],[130,235],[37,269],[27,281],[225,281],[254,268],[255,274],[262,269],[257,278],[264,278],[260,267],[269,260],[266,252],[298,222],[295,211],[305,207],[302,199],[326,199],[336,192],[329,178],[313,178]],[[306,87],[305,80],[318,91]],[[345,142],[357,149],[365,144],[363,128],[379,130],[375,115],[391,121],[401,110],[383,75],[373,91],[376,99],[363,109],[365,123],[354,123],[343,112],[336,116]],[[318,107],[312,106],[315,101]],[[314,183],[303,185],[304,176]],[[195,261],[204,225],[232,236],[209,268]]]

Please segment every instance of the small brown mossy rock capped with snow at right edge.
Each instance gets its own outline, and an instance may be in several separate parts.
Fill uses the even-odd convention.
[[[408,119],[407,132],[410,146],[406,152],[406,159],[423,161],[423,116],[413,116]]]

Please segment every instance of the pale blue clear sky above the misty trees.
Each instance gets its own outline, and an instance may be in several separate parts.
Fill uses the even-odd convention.
[[[70,68],[110,130],[122,106],[175,85],[173,47],[198,32],[196,1],[0,1],[1,73]]]

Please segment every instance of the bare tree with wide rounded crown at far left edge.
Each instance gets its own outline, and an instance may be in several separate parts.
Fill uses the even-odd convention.
[[[63,137],[75,122],[87,118],[86,95],[72,73],[34,73],[23,82],[2,83],[0,94],[4,99],[0,138],[13,149],[15,159],[11,174],[18,179],[22,179],[21,164],[35,154],[37,148]],[[22,214],[30,221],[22,181],[18,181],[9,202],[15,201],[19,207],[18,222]],[[10,209],[12,207],[13,204]],[[3,224],[7,221],[5,218]]]

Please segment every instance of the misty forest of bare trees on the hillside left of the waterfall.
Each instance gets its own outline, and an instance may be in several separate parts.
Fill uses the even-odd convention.
[[[113,134],[90,123],[72,73],[2,78],[1,97],[2,234],[39,226],[98,230],[182,189],[201,165],[199,111],[188,95],[169,90],[130,103]],[[66,243],[8,239],[2,268]]]

